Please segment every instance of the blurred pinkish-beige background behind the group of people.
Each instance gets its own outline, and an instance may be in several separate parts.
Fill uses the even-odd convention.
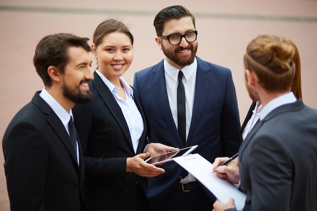
[[[124,75],[132,85],[136,71],[163,59],[163,52],[154,41],[154,16],[164,7],[178,4],[189,9],[196,18],[197,56],[231,69],[241,121],[251,105],[244,85],[243,54],[249,41],[259,34],[286,36],[295,42],[301,56],[303,101],[317,109],[315,0],[0,0],[1,140],[15,113],[31,100],[35,91],[43,88],[32,64],[39,39],[52,33],[69,32],[92,40],[97,25],[116,16],[130,26],[135,38],[134,61]],[[0,211],[8,211],[4,157],[0,148]]]

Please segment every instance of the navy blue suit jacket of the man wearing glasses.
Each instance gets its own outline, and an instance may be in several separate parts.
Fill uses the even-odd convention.
[[[198,145],[199,153],[210,162],[231,156],[241,143],[239,110],[231,71],[197,59],[192,119],[186,146]],[[135,73],[133,88],[148,122],[148,141],[183,148],[174,123],[166,90],[163,60]],[[148,178],[147,194],[156,203],[179,185],[187,172],[176,162],[162,165],[165,174]],[[168,204],[167,204],[168,205]],[[212,208],[212,207],[210,207]]]

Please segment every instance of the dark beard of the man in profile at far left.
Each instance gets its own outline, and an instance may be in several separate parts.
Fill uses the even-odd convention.
[[[66,86],[66,83],[64,82],[62,89],[64,97],[70,100],[71,102],[77,104],[87,104],[94,97],[93,93],[90,90],[86,90],[85,92],[83,92],[80,89],[80,85],[77,85],[74,89],[70,89]]]

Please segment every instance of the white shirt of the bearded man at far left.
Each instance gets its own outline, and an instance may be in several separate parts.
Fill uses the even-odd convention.
[[[72,111],[70,109],[69,113],[53,98],[53,96],[47,92],[45,88],[43,88],[42,92],[39,94],[39,97],[41,97],[49,106],[52,108],[52,110],[55,112],[55,114],[58,116],[58,118],[62,121],[64,128],[69,136],[68,131],[68,122],[70,117],[73,119]],[[76,157],[77,157],[77,164],[79,165],[79,149],[78,149],[78,142],[76,141]]]

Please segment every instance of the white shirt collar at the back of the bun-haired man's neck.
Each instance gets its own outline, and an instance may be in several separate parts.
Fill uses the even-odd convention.
[[[275,108],[278,108],[285,104],[294,103],[296,102],[296,100],[297,99],[293,92],[274,98],[273,100],[268,102],[265,106],[263,106],[262,111],[260,113],[260,120],[263,120]]]

